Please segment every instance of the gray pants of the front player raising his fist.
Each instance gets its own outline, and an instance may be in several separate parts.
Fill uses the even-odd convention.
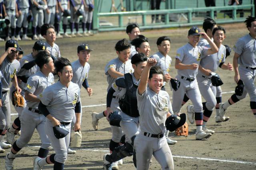
[[[144,136],[144,132],[140,132],[134,140],[134,150],[137,170],[149,169],[152,154],[163,170],[174,170],[172,152],[165,137],[152,138]]]

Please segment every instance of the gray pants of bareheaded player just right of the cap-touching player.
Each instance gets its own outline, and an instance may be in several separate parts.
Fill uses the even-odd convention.
[[[213,111],[216,101],[216,88],[212,85],[211,79],[204,78],[202,75],[196,76],[200,93],[206,100],[206,108],[209,111]]]

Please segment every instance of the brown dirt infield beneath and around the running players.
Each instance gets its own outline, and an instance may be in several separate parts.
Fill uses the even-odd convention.
[[[232,47],[238,38],[248,34],[244,24],[230,24],[224,25],[227,30],[227,38],[224,44]],[[177,28],[169,30],[153,30],[142,31],[142,34],[149,38],[151,45],[150,54],[157,51],[156,40],[160,36],[170,36],[172,57],[171,76],[176,76],[174,69],[174,57],[176,49],[187,42],[187,28]],[[70,61],[77,59],[76,48],[81,42],[86,42],[94,51],[91,52],[90,58],[90,72],[88,82],[93,89],[93,95],[88,97],[86,90],[82,89],[81,98],[82,106],[101,105],[106,103],[106,76],[104,75],[104,67],[110,59],[116,56],[114,45],[117,40],[121,38],[128,38],[124,32],[105,32],[97,34],[93,37],[85,38],[70,38],[59,39],[57,44],[60,46],[61,55],[67,57]],[[32,44],[34,42],[19,42],[24,49],[25,54],[32,51]],[[3,52],[4,43],[0,43],[0,49]],[[1,53],[2,53],[1,52]],[[232,63],[233,51],[226,62]],[[234,83],[234,71],[224,71],[219,69],[217,71],[224,85],[222,85],[223,92],[234,91],[236,84]],[[170,86],[166,87],[170,96]],[[222,101],[225,102],[232,93],[222,95]],[[204,99],[203,99],[204,101]],[[234,104],[228,108],[226,114],[230,120],[223,123],[215,123],[215,111],[210,118],[207,127],[215,130],[208,140],[195,140],[196,125],[189,123],[189,136],[178,137],[174,136],[172,139],[178,140],[175,145],[170,145],[172,154],[174,156],[174,168],[177,170],[189,169],[256,169],[256,123],[255,117],[250,110],[250,99],[246,99]],[[186,113],[186,106],[188,102],[182,107],[182,112]],[[106,109],[106,106],[84,107],[82,109],[82,146],[74,148],[77,150],[76,154],[68,154],[68,160],[65,164],[65,169],[88,169],[97,170],[102,169],[103,155],[108,153],[108,144],[111,138],[111,129],[105,118],[100,120],[98,131],[94,131],[91,125],[91,113],[93,111],[101,112]],[[16,113],[12,108],[12,113]],[[12,116],[14,120],[16,116]],[[169,136],[173,136],[170,133]],[[17,136],[18,137],[18,136]],[[20,150],[14,160],[14,169],[26,170],[32,169],[33,158],[37,155],[40,147],[40,138],[35,132],[27,147]],[[10,150],[6,149],[6,152]],[[5,153],[0,154],[0,169],[4,169]],[[54,151],[51,150],[50,153]],[[150,164],[151,170],[160,170],[161,167],[158,162],[152,158]],[[52,169],[52,165],[45,166],[44,169]],[[132,157],[124,159],[124,164],[119,166],[121,170],[135,169],[132,163]]]

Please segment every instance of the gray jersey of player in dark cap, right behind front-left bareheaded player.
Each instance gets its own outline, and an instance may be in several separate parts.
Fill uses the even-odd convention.
[[[78,84],[79,88],[81,89],[82,83],[85,79],[88,78],[90,64],[85,63],[84,67],[81,65],[79,60],[74,61],[71,63],[72,70],[73,70],[73,78],[72,82]]]

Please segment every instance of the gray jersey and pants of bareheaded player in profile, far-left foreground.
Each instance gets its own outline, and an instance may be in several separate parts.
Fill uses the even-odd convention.
[[[54,76],[52,73],[46,77],[41,71],[29,77],[25,91],[37,96],[40,95],[46,87],[54,83]],[[39,102],[27,101],[27,106],[23,110],[20,117],[21,121],[21,135],[16,144],[19,148],[23,148],[30,141],[34,130],[36,129],[40,135],[42,142],[41,148],[50,149],[50,140],[46,136],[44,125],[46,122],[46,117],[39,113],[38,111]]]

